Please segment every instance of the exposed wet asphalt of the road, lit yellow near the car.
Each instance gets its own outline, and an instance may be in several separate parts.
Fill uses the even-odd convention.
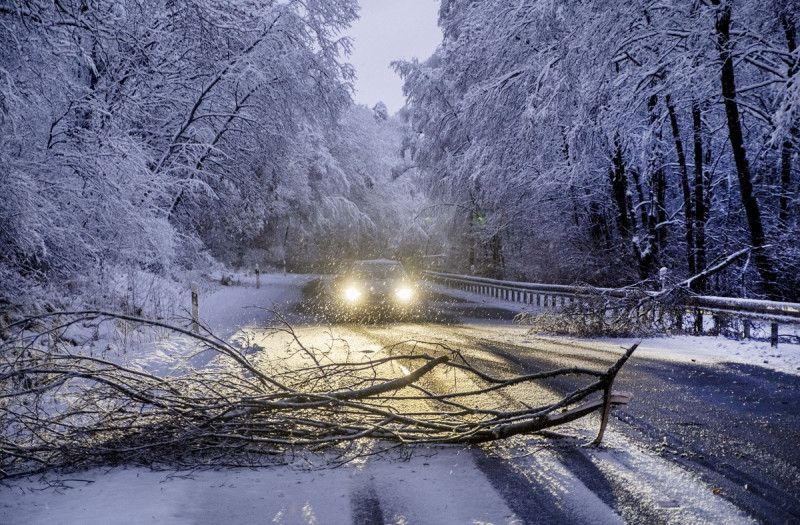
[[[312,293],[309,297],[317,296]],[[487,338],[482,333],[487,321],[496,327],[510,322],[513,313],[444,296],[431,299],[431,308],[418,322],[395,323],[381,318],[339,328],[381,345],[409,338],[452,341],[488,370],[505,373],[531,373],[564,365],[603,369],[621,352],[607,344],[553,338],[533,337],[522,344]],[[321,327],[329,329],[330,320],[325,319],[323,310],[306,308],[299,317],[308,324],[321,322]],[[575,386],[571,378],[543,385],[556,393],[569,392]],[[614,432],[698,480],[714,498],[732,504],[756,522],[800,523],[798,376],[740,364],[686,366],[634,354],[615,388],[632,392],[634,399],[613,413]],[[685,503],[668,496],[661,500],[650,497],[635,478],[632,481],[598,466],[597,450],[583,446],[585,439],[580,436],[566,434],[568,437],[546,445],[550,453],[570,476],[580,480],[625,522],[709,521],[704,517],[708,515],[693,514],[693,509],[676,512],[675,507]],[[481,471],[523,523],[585,521],[581,509],[565,507],[560,501],[564,492],[548,486],[547,477],[525,475],[514,461],[487,449],[475,449],[473,454]],[[663,490],[668,494],[680,487]],[[363,523],[380,522],[380,502],[375,495],[366,493],[363,505],[359,501],[356,498],[354,508],[361,509]]]

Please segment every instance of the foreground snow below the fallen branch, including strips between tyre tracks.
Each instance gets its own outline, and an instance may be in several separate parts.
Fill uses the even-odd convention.
[[[624,480],[634,497],[660,509],[665,523],[750,522],[710,487],[667,460],[641,451],[613,432],[606,441],[604,448],[589,452],[593,462]],[[546,447],[531,453],[524,439],[515,439],[503,448],[511,453],[501,457],[558,501],[557,512],[570,521],[626,521]],[[310,458],[315,460],[319,458]],[[114,468],[67,478],[15,480],[0,486],[0,523],[522,523],[470,451],[422,449],[410,458],[389,455],[339,468],[313,467],[303,458],[259,469]]]

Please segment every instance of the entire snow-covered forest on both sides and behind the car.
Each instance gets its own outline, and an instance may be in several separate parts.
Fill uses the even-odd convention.
[[[724,266],[692,291],[800,300],[797,13],[442,0],[389,115],[353,102],[355,0],[4,0],[0,306],[366,257],[654,289]]]

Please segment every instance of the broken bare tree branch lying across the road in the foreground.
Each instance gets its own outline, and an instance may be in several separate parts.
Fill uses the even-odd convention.
[[[96,342],[109,324],[140,336],[181,338],[214,359],[159,375],[114,345],[98,350],[69,337],[72,327],[88,327]],[[359,443],[374,440],[474,444],[545,431],[601,409],[599,443],[610,406],[627,401],[611,386],[637,346],[606,370],[496,377],[440,343],[404,341],[371,358],[334,359],[306,347],[288,323],[273,333],[290,340],[279,359],[208,331],[102,311],[58,312],[6,326],[0,333],[0,476],[100,464],[257,465],[309,447],[353,454]],[[586,384],[540,406],[503,395],[566,375]],[[602,395],[587,399],[595,393]]]

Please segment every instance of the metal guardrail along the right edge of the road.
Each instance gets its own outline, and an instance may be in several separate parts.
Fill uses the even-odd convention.
[[[424,272],[424,275],[427,280],[448,288],[538,308],[563,306],[580,292],[580,288],[577,286],[561,284],[521,283],[431,271]],[[596,288],[595,290],[611,297],[625,297],[626,295],[624,290],[615,288]],[[739,335],[749,339],[752,336],[754,323],[766,323],[769,325],[769,339],[772,346],[778,346],[781,325],[800,325],[800,303],[692,296],[689,297],[686,304],[686,312],[693,321],[691,331],[698,334],[719,333],[723,325],[731,320],[738,320],[741,323]],[[704,315],[712,318],[713,323],[710,329],[705,329]],[[683,329],[683,321],[682,318],[678,319],[677,329]]]

